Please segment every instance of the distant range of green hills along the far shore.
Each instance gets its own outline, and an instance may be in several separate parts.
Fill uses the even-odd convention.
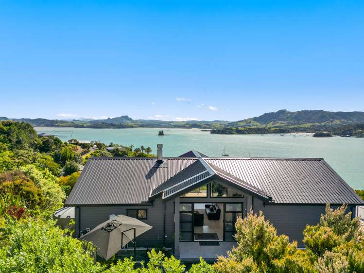
[[[8,118],[0,117],[0,120]],[[213,134],[269,134],[290,132],[330,132],[339,135],[363,136],[364,112],[329,112],[302,110],[291,112],[279,110],[259,117],[229,122],[226,120],[165,121],[157,119],[117,118],[86,119],[12,119],[24,121],[36,127],[75,128],[199,128],[213,129]],[[361,124],[358,126],[353,126]]]

